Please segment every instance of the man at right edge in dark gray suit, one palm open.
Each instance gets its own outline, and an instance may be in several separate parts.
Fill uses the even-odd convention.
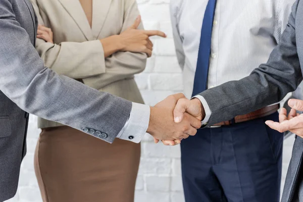
[[[268,62],[255,69],[250,76],[239,81],[227,82],[208,89],[197,94],[191,100],[180,99],[174,110],[176,122],[182,120],[183,112],[188,112],[196,117],[203,117],[203,123],[205,123],[203,127],[209,127],[221,121],[237,124],[234,119],[237,115],[278,103],[288,92],[294,91],[303,78],[303,69],[301,68],[301,66],[303,67],[302,25],[303,1],[297,0],[292,7],[292,13],[280,42],[271,53]],[[289,101],[290,107],[301,110],[302,107],[296,106],[297,103],[297,100]],[[284,110],[280,114],[281,124],[273,122],[267,122],[267,124],[281,132],[285,129],[301,132],[302,116],[295,117],[294,112],[291,113],[290,117],[286,117],[285,114]],[[292,117],[295,118],[291,119]],[[293,124],[291,125],[291,123]],[[285,125],[285,127],[281,127],[281,125]],[[294,128],[300,128],[300,130],[292,130]],[[302,157],[303,140],[301,137],[297,137],[286,177],[282,202],[303,201],[303,182],[301,174],[299,175],[302,172]]]

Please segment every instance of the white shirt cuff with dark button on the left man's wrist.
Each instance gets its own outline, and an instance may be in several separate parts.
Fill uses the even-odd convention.
[[[119,132],[117,138],[139,143],[148,128],[149,115],[149,106],[132,103],[129,119]]]

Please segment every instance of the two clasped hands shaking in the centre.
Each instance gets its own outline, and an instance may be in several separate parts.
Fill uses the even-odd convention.
[[[195,135],[205,117],[204,108],[198,98],[187,99],[183,93],[168,96],[150,108],[147,133],[165,145],[176,145],[182,139]]]

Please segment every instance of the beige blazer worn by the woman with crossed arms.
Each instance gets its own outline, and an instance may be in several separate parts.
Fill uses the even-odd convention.
[[[143,103],[134,74],[144,70],[146,54],[117,52],[105,58],[99,39],[120,34],[139,15],[135,0],[93,0],[90,27],[78,0],[31,0],[39,24],[52,29],[54,43],[37,38],[45,66],[58,74],[132,102]],[[139,26],[143,29],[142,24]],[[62,124],[38,119],[38,127]]]

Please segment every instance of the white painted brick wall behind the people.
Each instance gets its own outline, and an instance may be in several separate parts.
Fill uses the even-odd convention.
[[[153,38],[154,55],[148,59],[146,70],[136,77],[145,103],[154,106],[167,95],[182,91],[182,76],[175,57],[169,0],[137,2],[145,29],[160,29],[168,35],[166,39]],[[33,153],[40,132],[36,121],[36,117],[30,116],[27,156],[22,163],[18,192],[9,202],[42,201],[33,168]],[[290,137],[284,142],[282,179],[285,178],[293,140]],[[183,202],[180,173],[180,147],[154,144],[150,137],[145,136],[135,202]]]

